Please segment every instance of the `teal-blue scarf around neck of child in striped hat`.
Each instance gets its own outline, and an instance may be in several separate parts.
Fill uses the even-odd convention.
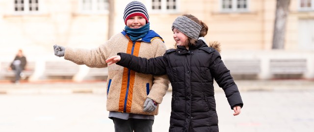
[[[143,38],[149,31],[149,22],[147,24],[145,24],[143,27],[141,28],[130,28],[128,26],[126,26],[124,28],[124,30],[126,31],[126,33],[128,34],[128,36],[130,37],[132,42],[137,41],[140,38]]]

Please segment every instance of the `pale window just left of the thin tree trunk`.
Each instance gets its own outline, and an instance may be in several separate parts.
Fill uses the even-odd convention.
[[[80,0],[80,10],[84,13],[102,13],[108,9],[108,0]]]

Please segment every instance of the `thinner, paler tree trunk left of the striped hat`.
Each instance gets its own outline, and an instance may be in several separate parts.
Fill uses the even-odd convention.
[[[114,33],[114,0],[108,0],[109,3],[109,16],[108,16],[108,40]]]

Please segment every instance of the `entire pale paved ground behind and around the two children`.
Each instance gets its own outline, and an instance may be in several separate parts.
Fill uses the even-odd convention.
[[[220,132],[314,132],[314,85],[308,81],[238,81],[244,101],[233,116],[216,88]],[[153,126],[168,132],[171,91]],[[114,132],[105,82],[0,84],[0,132]]]

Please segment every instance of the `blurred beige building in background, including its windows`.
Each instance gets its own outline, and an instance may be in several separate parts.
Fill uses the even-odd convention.
[[[111,12],[109,0],[0,0],[1,60],[11,60],[18,48],[30,59],[58,59],[53,44],[82,48],[103,44],[109,32],[124,29],[123,11],[131,0],[110,1]],[[168,48],[175,44],[172,22],[192,14],[208,24],[206,40],[219,41],[223,51],[271,49],[276,0],[138,1],[148,8],[151,29]],[[285,50],[314,50],[314,0],[291,0],[289,9]]]

